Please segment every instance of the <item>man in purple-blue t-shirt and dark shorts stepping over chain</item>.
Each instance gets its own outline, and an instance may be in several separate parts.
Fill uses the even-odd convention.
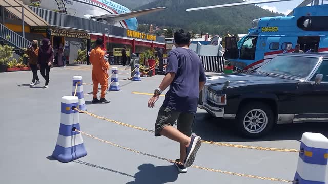
[[[174,34],[177,48],[169,53],[165,77],[148,101],[148,107],[153,108],[160,94],[170,85],[158,112],[155,136],[163,135],[180,143],[180,159],[176,160],[175,165],[181,173],[186,173],[187,167],[193,164],[201,145],[199,136],[191,137],[191,128],[197,111],[199,91],[206,81],[199,57],[189,49],[190,37],[190,33],[183,30]],[[176,120],[177,129],[173,128]]]

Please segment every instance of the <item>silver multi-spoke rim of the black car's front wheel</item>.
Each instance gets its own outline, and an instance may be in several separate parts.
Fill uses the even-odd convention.
[[[250,133],[260,133],[268,125],[268,116],[261,109],[252,109],[246,113],[243,124],[245,130]]]

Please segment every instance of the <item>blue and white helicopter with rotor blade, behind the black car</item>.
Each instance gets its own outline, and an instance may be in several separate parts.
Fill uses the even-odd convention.
[[[290,0],[241,2],[190,8],[187,11],[282,1]],[[253,28],[238,43],[235,37],[226,37],[224,58],[237,68],[253,70],[277,54],[293,52],[297,43],[304,52],[328,52],[327,21],[328,5],[323,4],[323,0],[320,5],[319,0],[304,0],[286,16],[253,20]]]

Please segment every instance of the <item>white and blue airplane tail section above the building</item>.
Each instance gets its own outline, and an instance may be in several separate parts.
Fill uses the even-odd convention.
[[[64,4],[64,13],[95,21],[103,21],[130,30],[137,30],[138,28],[138,21],[135,17],[167,9],[157,7],[131,11],[127,7],[110,0],[42,0],[40,1],[40,8],[52,11],[58,9],[60,11],[63,8],[61,4],[60,6],[57,4],[60,1]],[[30,0],[23,0],[23,2],[27,5],[30,4]]]

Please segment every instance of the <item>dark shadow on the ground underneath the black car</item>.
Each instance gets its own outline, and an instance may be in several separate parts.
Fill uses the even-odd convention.
[[[322,133],[328,136],[328,122],[276,125],[268,135],[260,139],[247,139],[238,134],[233,120],[215,118],[208,113],[197,113],[192,130],[202,140],[216,142],[300,140],[305,132]]]

